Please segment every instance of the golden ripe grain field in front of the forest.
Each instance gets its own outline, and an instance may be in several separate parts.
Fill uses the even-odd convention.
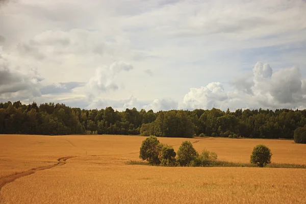
[[[306,169],[156,167],[139,160],[140,136],[0,135],[0,177],[65,165],[20,177],[1,189],[1,203],[306,203]],[[184,140],[219,160],[248,163],[266,144],[273,163],[306,164],[306,145],[292,140],[159,138],[175,150]],[[1,180],[0,179],[0,180]],[[0,183],[1,186],[1,183]]]

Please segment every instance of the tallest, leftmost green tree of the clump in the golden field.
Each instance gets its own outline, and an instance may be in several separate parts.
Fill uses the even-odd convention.
[[[151,165],[158,165],[160,160],[158,158],[161,149],[161,144],[156,136],[149,136],[142,141],[139,158],[146,160]]]

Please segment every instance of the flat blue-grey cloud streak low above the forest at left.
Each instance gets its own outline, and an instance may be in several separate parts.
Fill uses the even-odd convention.
[[[52,84],[44,86],[40,89],[41,94],[61,94],[71,93],[72,89],[85,86],[84,82],[61,82],[59,85]]]

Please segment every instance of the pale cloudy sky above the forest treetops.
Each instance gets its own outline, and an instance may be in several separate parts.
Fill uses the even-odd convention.
[[[0,101],[306,109],[305,0],[0,0]]]

